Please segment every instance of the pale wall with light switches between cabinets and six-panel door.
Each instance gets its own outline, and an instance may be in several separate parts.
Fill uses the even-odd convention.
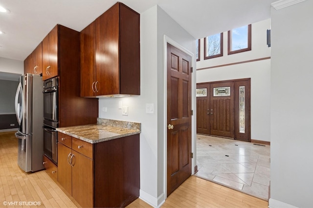
[[[187,50],[195,51],[195,38],[160,7],[154,6],[140,14],[140,95],[99,98],[99,117],[141,123],[140,198],[154,207],[159,206],[166,197],[164,35]],[[195,76],[193,81],[195,85]],[[122,110],[118,109],[119,102],[128,106],[128,116],[122,115]],[[154,113],[146,113],[146,103],[154,104]],[[103,107],[107,107],[107,112],[102,111]]]

